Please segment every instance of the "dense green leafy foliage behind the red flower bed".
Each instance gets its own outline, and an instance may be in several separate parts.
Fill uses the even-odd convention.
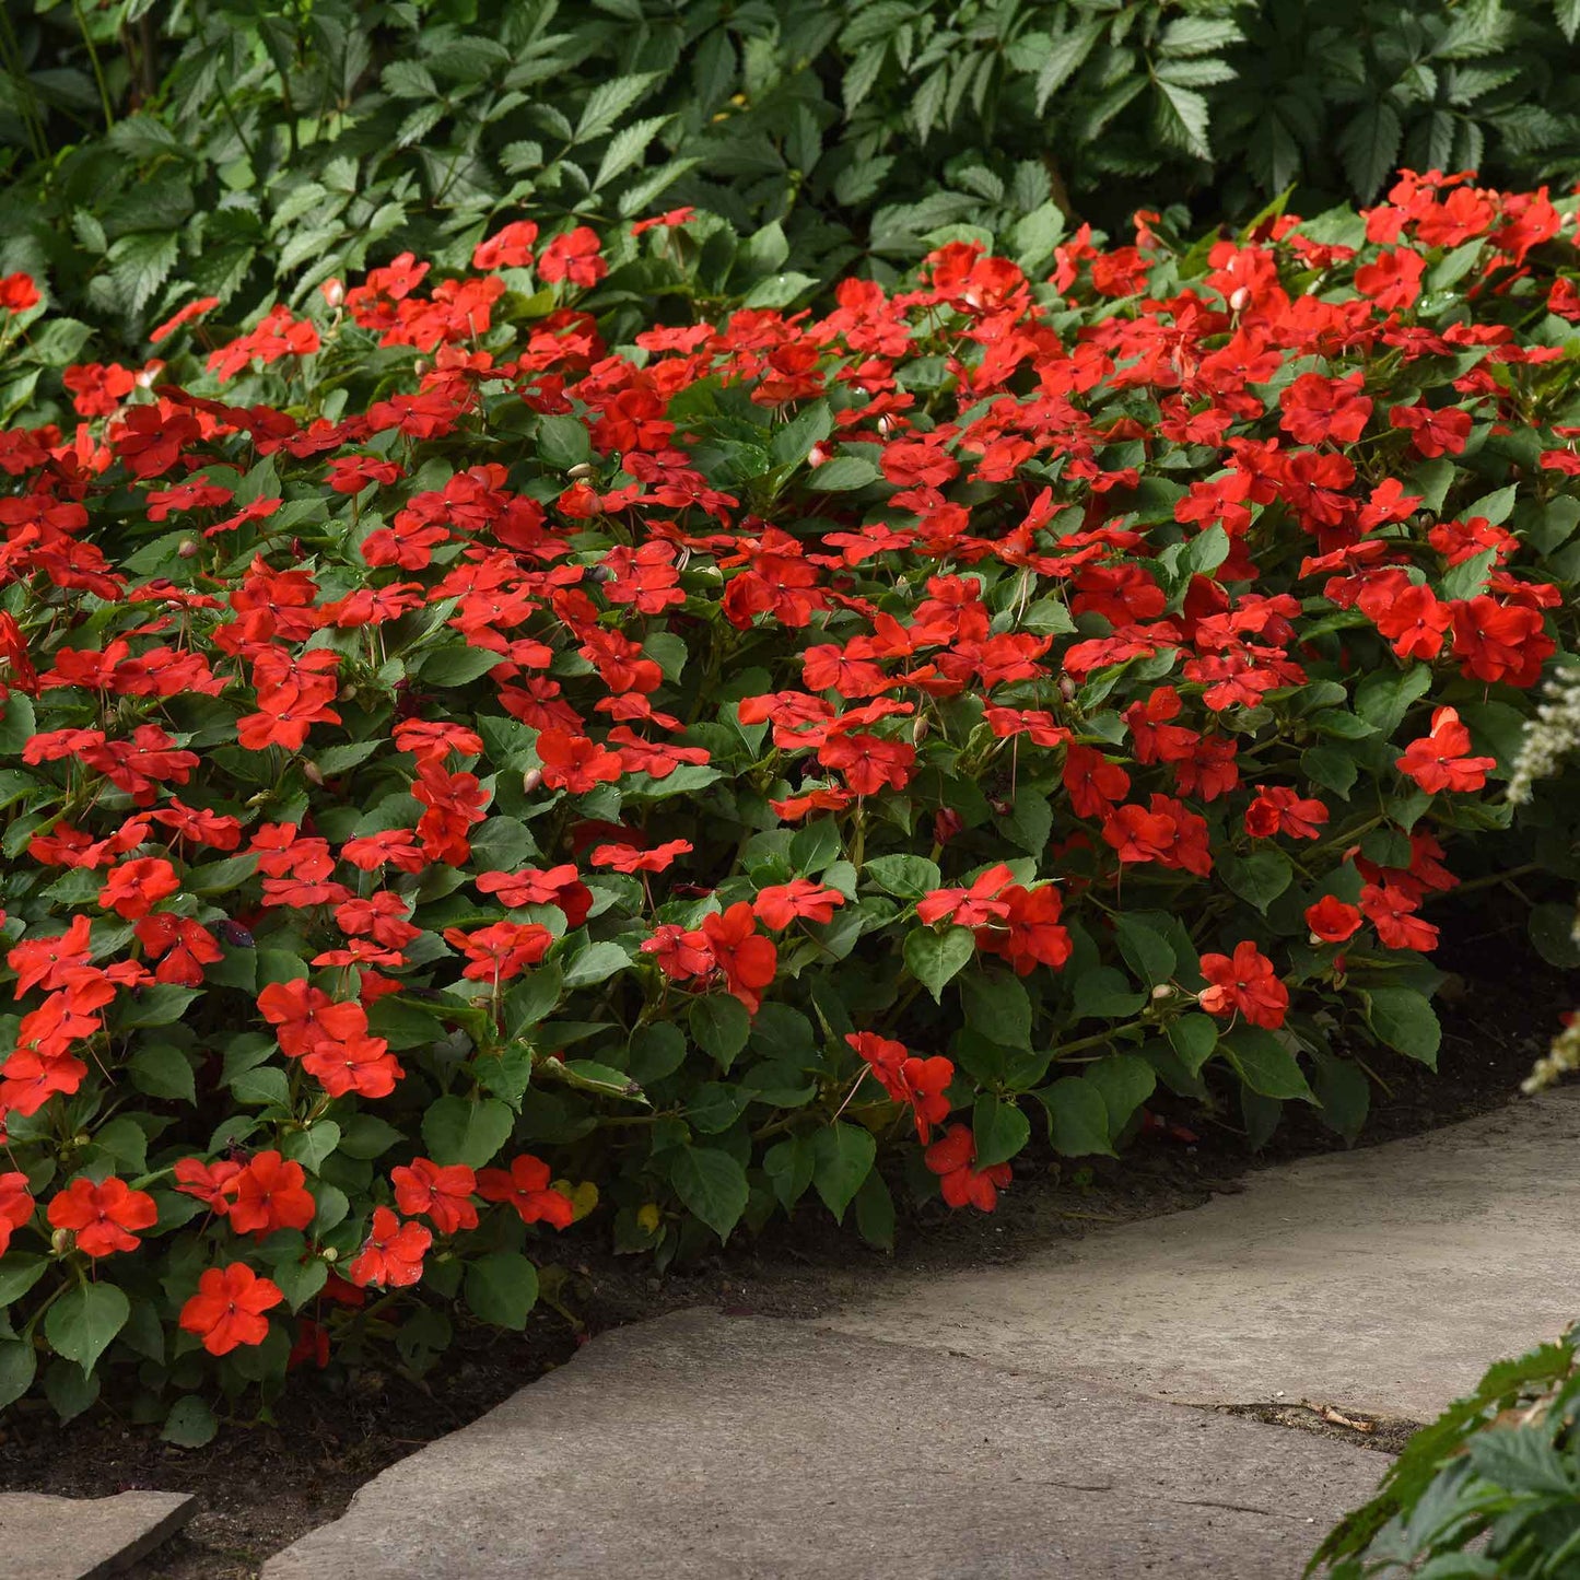
[[[1389,172],[1566,182],[1575,0],[6,0],[0,269],[134,341],[520,205],[777,223],[901,265],[1052,198],[1115,228],[1370,202]]]

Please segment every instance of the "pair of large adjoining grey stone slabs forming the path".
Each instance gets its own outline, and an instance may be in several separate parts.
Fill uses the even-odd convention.
[[[1424,1419],[1580,1311],[1580,1092],[1255,1176],[822,1322],[690,1311],[376,1477],[264,1580],[1294,1580]]]

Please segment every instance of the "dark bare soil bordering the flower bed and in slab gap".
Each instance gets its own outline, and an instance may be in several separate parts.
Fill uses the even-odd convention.
[[[1438,956],[1454,973],[1439,995],[1439,1070],[1433,1074],[1405,1059],[1375,1065],[1387,1092],[1375,1095],[1362,1146],[1517,1100],[1558,1016],[1575,1002],[1574,980],[1533,959],[1523,937],[1512,931],[1476,935],[1476,926],[1493,926],[1493,918],[1471,907],[1465,916]],[[393,1371],[363,1371],[338,1387],[310,1382],[292,1390],[272,1427],[232,1427],[205,1449],[175,1449],[104,1406],[66,1427],[54,1422],[47,1406],[16,1406],[0,1427],[0,1488],[85,1498],[134,1487],[196,1493],[202,1509],[186,1531],[130,1574],[134,1580],[251,1580],[267,1556],[335,1518],[384,1466],[474,1420],[604,1329],[689,1305],[811,1318],[894,1266],[1014,1261],[1093,1226],[1201,1206],[1213,1193],[1243,1190],[1245,1176],[1256,1169],[1345,1146],[1304,1104],[1289,1104],[1286,1122],[1256,1155],[1226,1119],[1204,1117],[1166,1097],[1152,1108],[1177,1127],[1172,1136],[1164,1130],[1122,1161],[1018,1160],[1014,1188],[997,1212],[950,1213],[929,1204],[902,1220],[893,1259],[866,1250],[814,1210],[755,1245],[732,1247],[706,1266],[664,1278],[640,1259],[607,1255],[591,1234],[567,1236],[559,1302],[575,1326],[540,1307],[520,1337],[461,1335],[420,1382]],[[1182,1139],[1183,1127],[1196,1139]],[[1334,1422],[1326,1408],[1322,1400],[1302,1400],[1232,1411],[1384,1452],[1397,1452],[1413,1425],[1379,1420],[1365,1430]]]

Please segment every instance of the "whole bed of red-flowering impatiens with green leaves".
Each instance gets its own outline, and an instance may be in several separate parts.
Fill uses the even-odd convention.
[[[940,237],[823,318],[517,220],[141,368],[0,286],[0,1397],[191,1441],[520,1327],[572,1223],[882,1245],[1158,1089],[1354,1136],[1569,646],[1572,213]]]

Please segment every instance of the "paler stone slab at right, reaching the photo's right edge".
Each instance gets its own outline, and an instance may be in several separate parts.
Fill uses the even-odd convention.
[[[1180,1401],[1430,1420],[1580,1316],[1577,1158],[1567,1087],[1013,1266],[875,1285],[830,1322]]]

